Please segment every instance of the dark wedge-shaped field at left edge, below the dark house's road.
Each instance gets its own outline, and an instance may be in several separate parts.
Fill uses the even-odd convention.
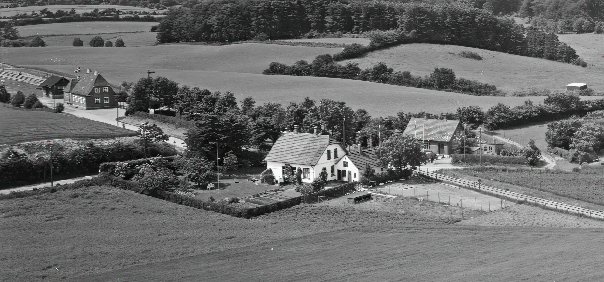
[[[20,111],[0,106],[0,144],[64,138],[135,136],[126,128],[48,111]]]

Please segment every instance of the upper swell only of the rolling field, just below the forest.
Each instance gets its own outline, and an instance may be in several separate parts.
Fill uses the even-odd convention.
[[[9,64],[51,65],[50,69],[57,70],[62,70],[63,68],[60,66],[68,64],[92,69],[104,67],[110,71],[122,67],[138,67],[141,69],[178,69],[181,74],[186,74],[187,70],[262,74],[271,61],[293,64],[297,60],[313,60],[316,55],[320,54],[335,54],[341,49],[273,44],[235,44],[223,46],[159,45],[132,48],[50,46],[37,48],[36,52],[32,51],[31,48],[13,48],[5,61]],[[72,72],[74,69],[70,68],[66,72]],[[146,77],[147,74],[142,76]]]

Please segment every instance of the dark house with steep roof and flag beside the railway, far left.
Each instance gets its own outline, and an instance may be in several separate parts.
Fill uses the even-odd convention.
[[[94,74],[88,69],[82,77],[72,79],[65,89],[63,99],[66,103],[85,110],[99,108],[116,108],[118,101],[115,99],[115,90],[97,70]]]

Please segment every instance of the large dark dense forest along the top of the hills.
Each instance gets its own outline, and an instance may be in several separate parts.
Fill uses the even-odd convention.
[[[210,1],[193,8],[174,9],[161,20],[156,31],[159,43],[233,42],[365,33],[374,47],[440,43],[534,55],[527,46],[524,28],[517,25],[512,17],[496,16],[492,11],[458,3]],[[542,36],[548,34],[547,31],[540,32]],[[544,41],[542,45],[550,41]],[[581,65],[576,54],[572,54],[574,50],[563,46],[556,49],[556,54],[563,54],[542,58]]]

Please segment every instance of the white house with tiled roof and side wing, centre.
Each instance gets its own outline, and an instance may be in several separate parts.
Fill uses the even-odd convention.
[[[266,166],[279,182],[285,181],[285,165],[292,166],[292,172],[302,169],[302,182],[310,183],[325,168],[329,173],[327,180],[358,181],[359,169],[365,164],[350,160],[342,145],[333,137],[324,134],[284,133],[272,146],[265,158]]]

